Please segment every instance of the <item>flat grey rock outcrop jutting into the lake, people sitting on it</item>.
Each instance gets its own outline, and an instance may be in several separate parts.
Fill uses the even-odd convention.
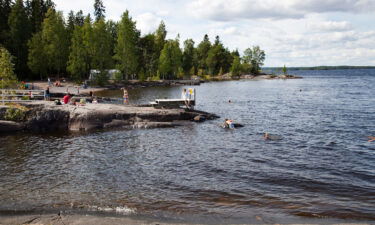
[[[9,107],[0,106],[0,133],[162,128],[180,126],[184,121],[203,122],[218,118],[211,113],[183,108],[156,109],[114,104],[74,106],[37,101],[23,103],[22,107],[24,116],[10,121],[6,115]]]

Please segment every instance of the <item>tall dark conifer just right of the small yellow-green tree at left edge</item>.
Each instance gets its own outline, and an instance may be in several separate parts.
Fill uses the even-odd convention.
[[[8,24],[10,28],[9,50],[15,56],[15,71],[21,78],[26,78],[29,74],[27,67],[27,41],[31,36],[30,25],[22,0],[17,0],[12,6]]]

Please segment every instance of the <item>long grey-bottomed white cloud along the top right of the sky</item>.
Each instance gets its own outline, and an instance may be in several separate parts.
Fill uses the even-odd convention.
[[[198,18],[237,19],[303,18],[310,13],[375,11],[373,0],[194,0],[188,11]]]

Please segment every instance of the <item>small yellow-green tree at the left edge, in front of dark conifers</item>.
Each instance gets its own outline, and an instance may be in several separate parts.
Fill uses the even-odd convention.
[[[14,74],[12,55],[3,47],[0,47],[0,87],[10,88],[17,84],[17,77]]]

